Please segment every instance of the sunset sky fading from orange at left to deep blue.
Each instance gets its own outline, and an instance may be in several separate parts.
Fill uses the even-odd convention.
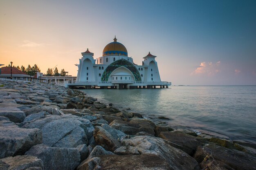
[[[255,0],[0,0],[0,64],[76,76],[115,35],[173,85],[256,85]]]

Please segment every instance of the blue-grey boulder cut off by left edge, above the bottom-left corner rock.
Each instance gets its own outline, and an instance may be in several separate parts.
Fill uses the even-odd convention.
[[[40,129],[22,129],[9,121],[0,122],[0,158],[22,155],[31,146],[42,143]]]

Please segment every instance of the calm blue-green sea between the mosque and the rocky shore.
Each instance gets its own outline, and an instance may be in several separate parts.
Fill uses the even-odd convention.
[[[186,128],[256,143],[256,86],[171,86],[168,89],[84,89],[103,103],[159,116]],[[163,120],[162,120],[163,121]]]

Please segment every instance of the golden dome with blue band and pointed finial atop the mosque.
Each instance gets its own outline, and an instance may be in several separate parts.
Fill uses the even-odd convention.
[[[106,47],[103,49],[102,52],[103,56],[105,55],[125,55],[128,56],[128,52],[125,48],[125,46],[119,42],[117,42],[116,36],[114,38],[114,42],[109,43],[108,45],[106,45]]]

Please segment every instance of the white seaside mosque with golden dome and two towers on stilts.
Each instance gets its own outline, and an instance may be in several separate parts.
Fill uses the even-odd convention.
[[[100,88],[168,88],[170,82],[161,81],[156,56],[148,53],[143,57],[142,65],[133,63],[132,57],[128,57],[126,47],[114,41],[103,49],[102,57],[94,59],[93,53],[88,49],[82,52],[79,59],[76,81],[70,86],[85,86]]]

